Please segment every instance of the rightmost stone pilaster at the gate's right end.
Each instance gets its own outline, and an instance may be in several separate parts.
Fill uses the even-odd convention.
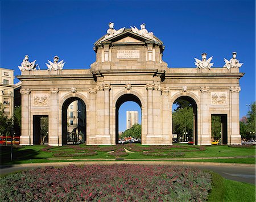
[[[239,92],[240,86],[230,87],[230,137],[228,144],[241,145],[239,121]]]

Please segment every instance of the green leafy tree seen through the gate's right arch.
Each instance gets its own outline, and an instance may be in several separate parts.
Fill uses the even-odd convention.
[[[172,133],[177,134],[179,138],[183,136],[184,132],[187,132],[191,140],[193,137],[193,108],[177,108],[172,113],[172,120]]]

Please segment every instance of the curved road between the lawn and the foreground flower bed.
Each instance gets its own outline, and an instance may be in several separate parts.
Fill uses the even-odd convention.
[[[1,167],[0,173],[8,174],[26,169],[35,169],[36,167],[44,166],[65,166],[68,164],[76,165],[89,165],[89,164],[113,164],[113,163],[133,163],[133,164],[154,164],[154,165],[180,165],[180,166],[191,166],[201,170],[210,170],[217,172],[222,177],[230,180],[236,180],[238,182],[246,182],[255,185],[255,166],[249,165],[231,165],[231,163],[196,163],[196,162],[170,162],[170,161],[114,161],[114,162],[64,162],[64,163],[37,163],[37,164],[23,164],[15,165],[14,167]]]

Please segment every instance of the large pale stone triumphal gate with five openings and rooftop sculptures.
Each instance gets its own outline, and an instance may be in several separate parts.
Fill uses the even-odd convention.
[[[85,106],[87,145],[118,142],[118,110],[126,101],[141,107],[142,144],[172,145],[172,104],[179,98],[193,106],[193,141],[211,144],[212,116],[221,116],[223,144],[241,144],[239,130],[239,72],[242,64],[225,59],[211,68],[212,57],[195,58],[196,68],[168,68],[164,45],[145,24],[109,30],[94,44],[96,61],[90,69],[63,69],[55,57],[48,70],[36,70],[26,56],[19,66],[22,81],[21,145],[39,144],[38,117],[49,120],[48,144],[67,144],[67,108],[74,100]],[[39,134],[38,134],[39,133]]]

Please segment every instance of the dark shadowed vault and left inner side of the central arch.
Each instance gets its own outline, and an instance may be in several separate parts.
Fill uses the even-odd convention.
[[[118,144],[118,125],[119,125],[119,120],[118,120],[118,116],[119,116],[119,108],[121,107],[121,105],[127,101],[132,101],[135,102],[139,105],[139,107],[141,107],[142,109],[142,102],[141,100],[134,94],[124,94],[121,95],[118,99],[117,102],[115,103],[115,144]]]

